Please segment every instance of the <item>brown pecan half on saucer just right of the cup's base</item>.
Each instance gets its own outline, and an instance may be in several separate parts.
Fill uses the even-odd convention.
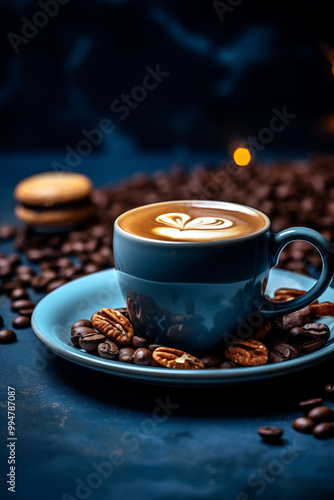
[[[242,366],[265,365],[268,362],[268,348],[255,339],[236,340],[226,347],[227,359]]]

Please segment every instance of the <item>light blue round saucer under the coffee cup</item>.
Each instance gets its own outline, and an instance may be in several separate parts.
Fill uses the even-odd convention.
[[[306,276],[273,269],[270,273],[267,293],[281,287],[308,290],[315,280]],[[334,302],[334,289],[329,288],[320,301]],[[334,318],[322,318],[331,329],[331,338],[326,346],[312,354],[285,361],[249,368],[230,370],[173,370],[147,366],[129,365],[110,361],[88,354],[73,347],[70,340],[72,324],[78,319],[89,319],[102,307],[124,306],[116,272],[114,269],[79,278],[54,290],[42,299],[32,316],[32,328],[36,336],[51,351],[79,365],[112,375],[157,384],[180,385],[224,385],[253,381],[262,378],[286,375],[308,368],[334,355]]]

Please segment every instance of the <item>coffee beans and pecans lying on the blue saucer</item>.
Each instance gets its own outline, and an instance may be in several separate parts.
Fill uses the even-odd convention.
[[[304,290],[280,288],[272,300],[292,300],[303,293]],[[142,366],[178,369],[259,366],[281,363],[323,348],[329,340],[330,330],[314,319],[320,317],[324,308],[328,312],[331,307],[334,304],[329,302],[316,303],[272,321],[264,319],[250,338],[238,339],[232,334],[222,348],[198,357],[143,338],[131,322],[131,313],[126,307],[104,308],[94,313],[90,320],[76,321],[72,325],[71,341],[75,347],[102,358]]]

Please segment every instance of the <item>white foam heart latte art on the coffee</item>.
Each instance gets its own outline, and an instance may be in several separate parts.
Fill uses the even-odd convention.
[[[178,229],[179,231],[211,231],[215,229],[224,229],[233,225],[232,221],[221,217],[196,217],[195,219],[192,219],[190,215],[179,212],[159,215],[156,218],[156,221]]]

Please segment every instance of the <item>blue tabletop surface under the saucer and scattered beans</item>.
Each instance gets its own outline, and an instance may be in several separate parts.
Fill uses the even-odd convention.
[[[188,157],[189,164],[200,159]],[[167,168],[172,160],[90,159],[80,171],[102,185],[138,170]],[[15,183],[49,170],[50,161],[46,155],[0,157],[2,221],[14,220]],[[0,245],[0,251],[11,250],[11,243]],[[14,317],[9,304],[0,295],[7,327]],[[1,498],[333,498],[333,440],[291,428],[300,415],[298,401],[334,382],[333,361],[233,387],[162,387],[72,364],[48,351],[31,329],[17,336],[16,343],[0,348]],[[15,495],[6,484],[8,386],[16,390]],[[260,425],[283,427],[284,443],[264,444],[256,432]]]

